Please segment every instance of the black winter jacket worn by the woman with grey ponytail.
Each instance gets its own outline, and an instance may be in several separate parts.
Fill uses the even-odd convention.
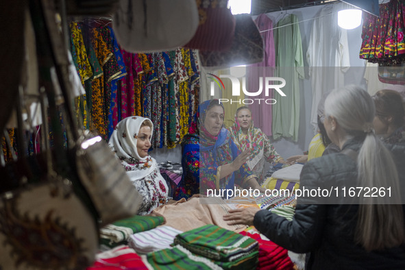
[[[346,147],[358,151],[361,143],[350,140],[343,149]],[[397,162],[400,180],[405,183],[405,148],[387,147]],[[323,186],[326,182],[342,187],[356,186],[356,179],[356,162],[336,153],[310,160],[302,169],[300,182],[307,188]],[[254,226],[286,249],[310,252],[307,269],[405,269],[405,245],[367,252],[354,243],[358,204],[347,204],[347,197],[339,199],[339,204],[313,204],[310,198],[298,198],[292,221],[260,210],[254,217]]]

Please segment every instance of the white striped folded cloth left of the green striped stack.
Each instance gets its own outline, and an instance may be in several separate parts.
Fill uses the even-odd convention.
[[[139,254],[147,254],[169,248],[173,244],[175,236],[181,233],[182,231],[170,226],[160,226],[149,231],[132,234],[128,245]]]

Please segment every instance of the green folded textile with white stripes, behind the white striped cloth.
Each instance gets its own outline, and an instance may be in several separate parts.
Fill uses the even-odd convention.
[[[100,243],[116,247],[127,243],[128,238],[136,232],[144,232],[164,223],[164,217],[134,216],[121,219],[100,229]]]

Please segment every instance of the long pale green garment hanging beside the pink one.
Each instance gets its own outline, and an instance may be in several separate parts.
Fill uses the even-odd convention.
[[[302,58],[302,39],[299,31],[298,18],[289,15],[281,19],[275,29],[276,47],[275,77],[286,81],[283,92],[286,97],[274,93],[277,103],[273,104],[273,138],[283,136],[298,140],[299,125],[299,79],[304,79],[304,59]]]

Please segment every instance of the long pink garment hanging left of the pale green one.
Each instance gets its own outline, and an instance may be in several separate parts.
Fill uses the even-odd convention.
[[[273,71],[275,66],[275,48],[274,48],[274,38],[273,30],[265,31],[273,28],[273,21],[266,15],[260,14],[256,20],[256,25],[262,34],[263,41],[265,42],[265,58],[263,62],[257,64],[251,64],[247,67],[247,89],[249,92],[257,92],[259,89],[259,77],[273,77]],[[265,31],[265,32],[262,32]],[[265,95],[265,82],[263,82],[262,93],[254,97],[255,99],[272,99],[273,92],[269,91],[269,96]],[[249,106],[257,127],[262,130],[266,135],[271,136],[271,119],[272,119],[272,109],[270,104],[266,103],[253,103]]]

